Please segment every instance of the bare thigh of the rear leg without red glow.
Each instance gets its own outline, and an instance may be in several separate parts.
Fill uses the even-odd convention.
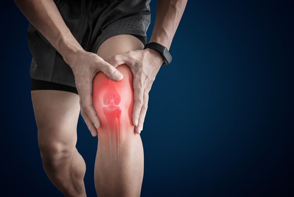
[[[79,96],[60,90],[32,90],[39,146],[76,144]]]

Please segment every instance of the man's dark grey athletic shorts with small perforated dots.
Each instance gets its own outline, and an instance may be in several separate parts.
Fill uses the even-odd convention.
[[[119,34],[136,36],[145,45],[151,19],[150,1],[54,0],[54,3],[83,49],[96,53],[106,39]],[[55,89],[77,94],[70,66],[31,23],[27,41],[32,54],[31,90]]]

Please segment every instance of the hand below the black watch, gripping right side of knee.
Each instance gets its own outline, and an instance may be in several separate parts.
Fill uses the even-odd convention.
[[[134,106],[132,121],[135,132],[140,134],[148,107],[149,91],[158,73],[163,58],[153,49],[128,51],[124,54],[114,55],[109,60],[115,68],[127,64],[133,73]]]

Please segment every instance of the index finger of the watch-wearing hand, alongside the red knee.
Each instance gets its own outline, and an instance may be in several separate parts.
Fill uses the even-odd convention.
[[[138,126],[138,119],[141,112],[141,108],[143,105],[143,83],[141,80],[133,80],[133,88],[134,88],[134,106],[132,113],[132,121],[133,125]]]

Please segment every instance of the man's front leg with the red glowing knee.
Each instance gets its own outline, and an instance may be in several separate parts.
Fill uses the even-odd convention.
[[[108,61],[113,55],[143,47],[135,36],[123,34],[103,42],[97,54]],[[109,81],[100,72],[93,82],[93,105],[101,121],[95,162],[98,197],[140,196],[143,180],[143,145],[131,121],[133,75],[125,64],[117,69],[123,74],[122,81]]]

